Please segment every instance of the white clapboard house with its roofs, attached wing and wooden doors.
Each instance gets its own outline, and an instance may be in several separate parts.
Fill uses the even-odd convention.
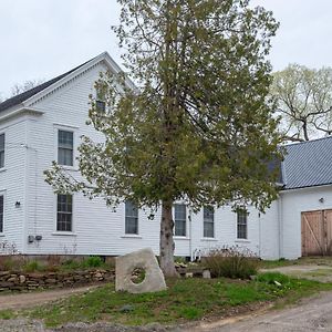
[[[158,253],[159,214],[129,203],[116,211],[102,199],[54,195],[43,172],[58,160],[75,175],[80,136],[102,139],[85,125],[89,95],[101,71],[120,71],[107,53],[0,104],[0,252],[123,255],[151,247]],[[176,256],[214,247],[248,247],[264,259],[330,252],[332,138],[289,145],[280,198],[266,214],[248,207],[174,206]],[[1,251],[2,250],[2,251]]]

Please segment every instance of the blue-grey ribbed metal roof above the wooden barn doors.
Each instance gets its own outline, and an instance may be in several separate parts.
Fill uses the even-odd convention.
[[[332,137],[286,146],[282,162],[283,189],[332,184]]]

